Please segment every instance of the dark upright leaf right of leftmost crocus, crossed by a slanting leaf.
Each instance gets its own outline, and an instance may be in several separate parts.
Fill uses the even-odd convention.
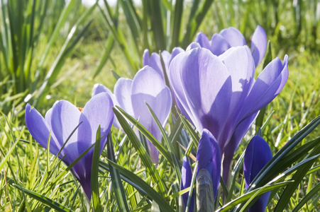
[[[107,146],[107,152],[108,152],[108,159],[111,161],[116,161],[116,157],[114,156],[114,146],[112,143],[112,138],[111,135],[108,135],[108,139],[106,141],[106,146]],[[96,163],[97,165],[99,163]],[[128,203],[126,200],[126,193],[123,189],[123,184],[121,182],[120,174],[118,170],[114,167],[110,167],[110,177],[111,177],[111,182],[112,182],[112,187],[114,189],[114,194],[116,196],[116,202],[119,211],[130,211],[128,207]]]

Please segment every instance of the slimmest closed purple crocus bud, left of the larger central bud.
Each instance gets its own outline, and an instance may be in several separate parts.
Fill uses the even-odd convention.
[[[186,156],[183,157],[182,162],[182,169],[181,169],[181,184],[180,188],[181,190],[187,189],[187,187],[190,187],[191,185],[191,179],[192,179],[192,170],[189,164],[189,161]],[[191,202],[189,205],[189,211],[193,211],[194,208],[194,193],[192,193]],[[189,192],[182,194],[182,199],[184,201],[184,205],[187,206]]]

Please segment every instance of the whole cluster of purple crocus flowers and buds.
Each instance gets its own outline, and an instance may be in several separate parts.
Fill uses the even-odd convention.
[[[222,30],[214,34],[211,40],[199,33],[185,51],[175,47],[171,53],[162,52],[161,57],[157,53],[149,54],[146,49],[143,69],[136,73],[133,80],[119,78],[114,93],[96,84],[92,90],[92,99],[82,112],[70,102],[62,100],[53,105],[45,118],[27,105],[26,124],[33,138],[45,148],[50,136],[50,151],[55,155],[70,136],[67,145],[58,155],[70,165],[94,143],[99,125],[102,136],[109,134],[112,123],[118,129],[121,127],[111,109],[114,105],[138,119],[160,141],[162,134],[145,103],[150,105],[162,126],[165,126],[173,102],[202,135],[197,148],[198,168],[195,171],[199,180],[209,176],[216,199],[221,172],[227,183],[231,160],[238,144],[258,112],[280,93],[287,81],[287,55],[283,63],[279,58],[273,59],[255,78],[255,67],[262,61],[266,48],[265,31],[258,26],[250,49],[236,28]],[[166,78],[170,88],[166,85]],[[105,138],[101,140],[102,148],[106,143]],[[247,187],[272,157],[272,154],[261,151],[260,146],[267,146],[261,139],[254,137],[245,153]],[[159,151],[150,141],[148,152],[153,163],[158,163]],[[92,154],[90,150],[72,167],[72,173],[89,198]],[[265,155],[265,158],[256,160],[258,155]],[[192,169],[188,158],[184,157],[181,189],[190,187],[191,178]],[[265,196],[262,199],[266,199]],[[187,204],[187,197],[188,194],[182,195],[184,204]],[[201,199],[198,202],[201,204]],[[263,208],[265,204],[263,200],[260,205]],[[192,197],[190,211],[193,205]]]

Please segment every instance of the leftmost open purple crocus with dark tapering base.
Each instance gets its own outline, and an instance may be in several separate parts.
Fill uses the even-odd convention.
[[[94,96],[83,109],[72,105],[67,100],[57,101],[45,114],[45,118],[35,108],[31,109],[31,105],[28,104],[26,106],[26,125],[33,139],[44,148],[48,148],[50,137],[50,153],[53,155],[57,155],[67,141],[58,157],[62,158],[66,165],[70,165],[96,142],[96,131],[99,126],[102,136],[101,154],[114,118],[111,107],[113,107],[113,103],[106,93]],[[73,134],[72,131],[74,131]],[[68,138],[69,140],[67,140]],[[92,194],[93,152],[94,149],[90,149],[71,169],[88,199],[91,199]]]

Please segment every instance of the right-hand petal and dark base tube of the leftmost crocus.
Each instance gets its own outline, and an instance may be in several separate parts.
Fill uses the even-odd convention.
[[[77,152],[76,158],[87,150],[93,143],[96,142],[96,131],[101,127],[100,154],[106,145],[106,136],[109,134],[111,124],[114,119],[112,110],[113,102],[110,96],[106,93],[99,93],[87,102],[79,117],[80,124],[77,134],[77,143],[71,143],[65,148],[69,152]],[[77,150],[77,151],[76,151]],[[92,148],[89,153],[83,156],[74,166],[75,176],[82,185],[87,196],[91,196],[91,167],[92,167]],[[72,160],[72,161],[73,161]],[[89,185],[88,185],[89,183]]]

